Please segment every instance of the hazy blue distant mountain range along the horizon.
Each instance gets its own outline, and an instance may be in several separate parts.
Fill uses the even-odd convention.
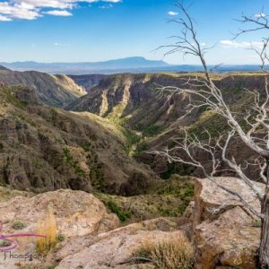
[[[14,62],[0,63],[15,71],[39,71],[49,74],[117,74],[117,73],[143,73],[143,72],[200,72],[201,65],[169,65],[164,61],[148,60],[135,56],[103,62],[81,63],[37,63]],[[209,66],[215,71],[214,66]],[[218,72],[257,71],[259,65],[221,65]]]

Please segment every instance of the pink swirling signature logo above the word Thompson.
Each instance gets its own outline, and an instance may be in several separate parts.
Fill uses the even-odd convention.
[[[3,228],[3,221],[0,221],[0,232]],[[7,247],[0,247],[0,252],[6,252],[11,251],[15,248],[17,248],[19,245],[13,238],[46,238],[45,236],[41,234],[35,234],[35,233],[13,233],[13,234],[0,234],[0,241],[6,242],[8,244],[11,244]]]

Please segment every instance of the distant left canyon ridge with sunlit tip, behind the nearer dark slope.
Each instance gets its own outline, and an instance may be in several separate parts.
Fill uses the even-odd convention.
[[[82,87],[66,75],[51,75],[34,71],[15,72],[2,67],[0,68],[0,82],[33,88],[40,101],[53,107],[63,107],[86,94]]]

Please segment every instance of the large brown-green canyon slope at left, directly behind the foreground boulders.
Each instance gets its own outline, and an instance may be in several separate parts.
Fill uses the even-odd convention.
[[[0,90],[1,184],[132,195],[158,178],[127,155],[123,128],[90,113],[43,106],[32,89]]]

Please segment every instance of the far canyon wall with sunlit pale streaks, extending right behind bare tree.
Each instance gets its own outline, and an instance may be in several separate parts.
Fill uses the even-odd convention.
[[[90,111],[108,118],[111,122],[126,126],[134,131],[133,146],[130,154],[139,161],[149,164],[161,178],[169,178],[173,173],[180,175],[203,176],[199,169],[186,165],[168,163],[152,153],[164,146],[173,145],[173,139],[185,135],[183,129],[197,135],[202,140],[206,138],[204,128],[213,137],[228,130],[225,119],[206,108],[195,108],[191,112],[187,108],[190,96],[174,94],[169,98],[167,92],[160,91],[160,86],[180,86],[186,84],[189,77],[195,78],[201,74],[116,74],[110,75],[92,88],[91,92],[75,100],[65,108],[75,111]],[[259,91],[265,95],[265,80],[263,74],[212,74],[213,80],[221,88],[226,102],[238,117],[242,126],[247,127],[243,113],[252,107],[253,96],[250,91]],[[189,87],[189,86],[184,86]],[[178,152],[182,154],[182,152]],[[230,146],[232,154],[239,163],[255,160],[256,155],[239,141],[233,141]],[[197,152],[204,166],[209,166],[208,156]],[[186,157],[186,156],[181,156]],[[222,169],[225,165],[222,164]],[[251,178],[259,178],[255,169],[247,169]],[[223,175],[232,175],[224,173]]]

